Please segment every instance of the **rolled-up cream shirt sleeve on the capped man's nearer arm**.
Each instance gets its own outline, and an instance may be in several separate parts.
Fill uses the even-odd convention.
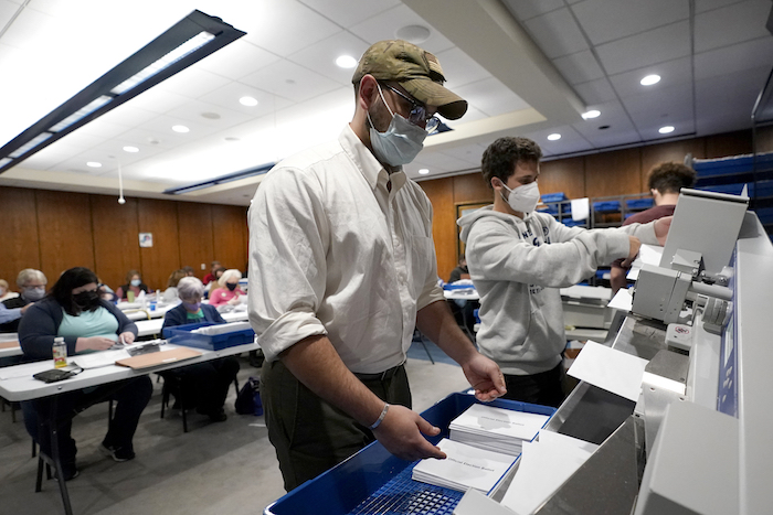
[[[250,322],[269,362],[308,336],[327,334],[316,315],[329,235],[319,189],[314,176],[275,169],[250,207]]]

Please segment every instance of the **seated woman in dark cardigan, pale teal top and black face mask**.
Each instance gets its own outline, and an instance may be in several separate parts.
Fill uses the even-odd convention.
[[[117,341],[131,343],[137,326],[112,303],[97,293],[98,279],[87,268],[64,271],[49,296],[35,302],[22,318],[19,341],[24,355],[34,360],[51,360],[54,337],[63,336],[67,355],[106,351]],[[116,383],[94,386],[56,396],[56,428],[64,479],[77,475],[75,440],[70,436],[73,414],[104,400],[117,401],[115,415],[99,451],[115,461],[135,457],[131,440],[139,416],[152,394],[152,383],[146,375]],[[52,397],[22,403],[24,425],[41,450],[51,454],[47,431],[41,431],[39,420],[47,417]]]

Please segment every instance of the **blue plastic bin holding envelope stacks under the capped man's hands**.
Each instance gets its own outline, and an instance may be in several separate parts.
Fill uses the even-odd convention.
[[[437,443],[448,437],[448,425],[478,400],[468,394],[452,394],[422,414],[442,429],[431,438]],[[528,403],[497,399],[497,408],[552,415],[554,408]],[[463,493],[411,479],[413,466],[373,442],[348,460],[311,481],[307,481],[267,506],[264,515],[349,515],[422,513],[451,515]]]

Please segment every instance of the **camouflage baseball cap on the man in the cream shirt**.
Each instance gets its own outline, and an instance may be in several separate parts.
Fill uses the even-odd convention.
[[[437,107],[437,112],[449,120],[462,118],[467,111],[467,100],[443,86],[445,76],[437,57],[407,41],[374,43],[362,54],[352,84],[368,74],[377,81],[399,82],[413,98]]]

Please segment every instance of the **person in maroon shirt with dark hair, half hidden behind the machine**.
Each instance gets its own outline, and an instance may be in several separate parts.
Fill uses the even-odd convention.
[[[682,187],[695,186],[696,180],[696,171],[685,164],[665,162],[656,165],[649,171],[647,178],[647,186],[655,200],[655,206],[627,217],[623,225],[646,224],[664,216],[674,215],[676,203],[679,200],[679,191]],[[628,269],[623,268],[621,260],[612,264],[610,285],[613,294],[627,285],[625,279],[627,273]]]

